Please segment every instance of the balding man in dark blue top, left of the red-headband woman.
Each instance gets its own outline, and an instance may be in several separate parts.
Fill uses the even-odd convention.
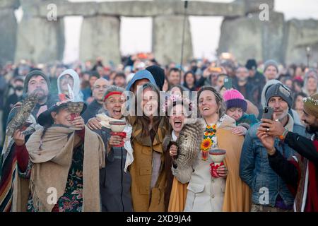
[[[86,111],[82,114],[84,122],[87,123],[89,119],[95,117],[98,114],[98,111],[102,108],[104,103],[103,97],[107,87],[110,85],[110,82],[105,78],[98,78],[93,85],[93,102],[88,105]]]

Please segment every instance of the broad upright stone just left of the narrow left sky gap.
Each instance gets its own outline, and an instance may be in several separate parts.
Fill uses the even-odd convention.
[[[16,61],[31,59],[47,63],[63,59],[64,20],[26,18],[18,25]]]

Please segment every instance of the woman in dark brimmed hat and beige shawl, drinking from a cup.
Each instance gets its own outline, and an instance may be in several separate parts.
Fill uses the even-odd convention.
[[[18,165],[30,175],[30,193],[18,191],[28,204],[19,205],[30,212],[100,211],[99,169],[105,165],[100,136],[81,117],[71,121],[66,102],[40,114],[38,122],[44,129],[35,131],[28,143],[20,131],[14,136]]]

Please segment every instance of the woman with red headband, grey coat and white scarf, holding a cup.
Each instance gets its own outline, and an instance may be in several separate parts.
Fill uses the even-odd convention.
[[[126,123],[122,114],[123,92],[124,89],[117,86],[107,88],[100,114],[89,123],[89,127],[102,137],[107,151],[106,166],[100,169],[100,196],[104,212],[132,211],[131,175],[127,170],[134,160],[130,143],[131,126],[126,124],[121,133],[113,133],[110,127],[112,121]]]

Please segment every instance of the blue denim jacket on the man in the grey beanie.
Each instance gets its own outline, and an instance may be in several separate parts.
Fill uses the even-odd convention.
[[[271,169],[267,150],[257,138],[257,128],[260,124],[261,122],[254,124],[245,136],[240,159],[240,177],[252,189],[253,203],[274,207],[279,194],[285,205],[291,206],[294,203],[294,197],[283,179]],[[293,125],[293,132],[301,136],[306,134],[305,127],[299,124]],[[279,138],[275,139],[274,145],[285,158],[295,153],[295,150]]]

